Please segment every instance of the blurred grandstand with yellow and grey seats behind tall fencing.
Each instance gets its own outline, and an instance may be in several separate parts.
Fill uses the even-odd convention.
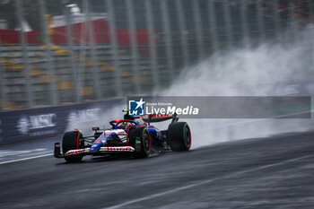
[[[312,0],[0,2],[0,109],[161,91],[182,70],[213,53],[282,39],[286,28],[297,31],[314,22],[313,4]],[[12,11],[14,17],[9,16]]]

